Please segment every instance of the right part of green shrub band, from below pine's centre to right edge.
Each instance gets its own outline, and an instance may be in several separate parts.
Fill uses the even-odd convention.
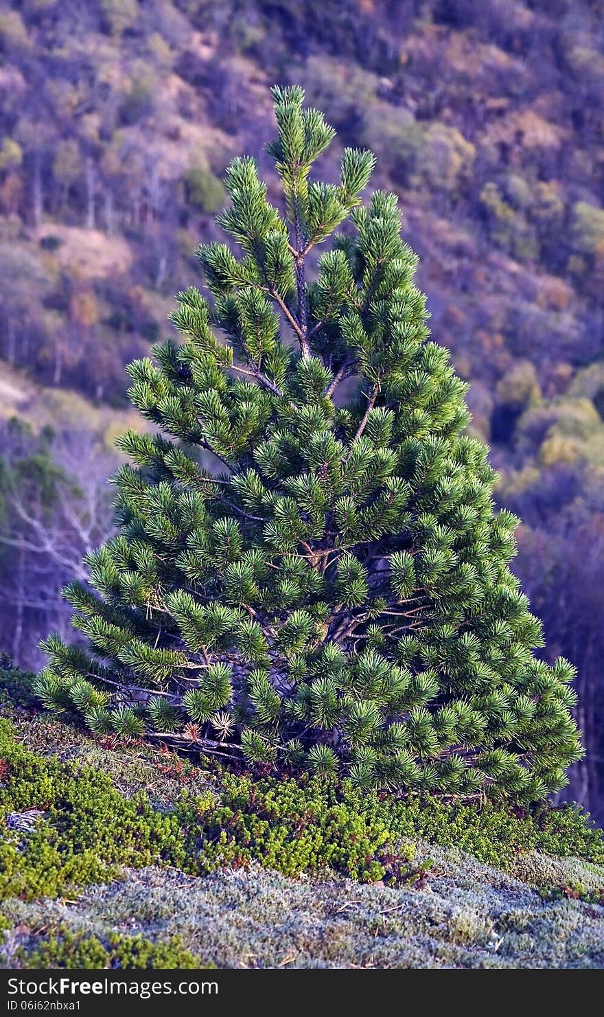
[[[531,850],[604,861],[602,832],[569,805],[511,811],[429,795],[392,799],[363,794],[347,781],[276,783],[226,773],[220,804],[204,811],[197,798],[196,806],[212,868],[256,858],[288,876],[327,864],[354,879],[381,879],[388,868],[385,846],[396,845],[409,860],[413,851],[401,850],[401,843],[418,839],[499,869]],[[192,820],[187,825],[194,829]]]

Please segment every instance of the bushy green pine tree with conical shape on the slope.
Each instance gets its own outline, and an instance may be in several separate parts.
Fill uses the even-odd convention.
[[[178,294],[182,341],[128,368],[155,429],[118,441],[134,465],[97,593],[65,591],[88,650],[51,636],[39,693],[98,732],[539,799],[581,755],[573,669],[534,655],[517,520],[429,341],[396,195],[361,202],[366,151],[309,179],[335,132],[301,88],[274,98],[285,215],[235,159],[217,221],[236,243],[197,250],[212,297]]]

